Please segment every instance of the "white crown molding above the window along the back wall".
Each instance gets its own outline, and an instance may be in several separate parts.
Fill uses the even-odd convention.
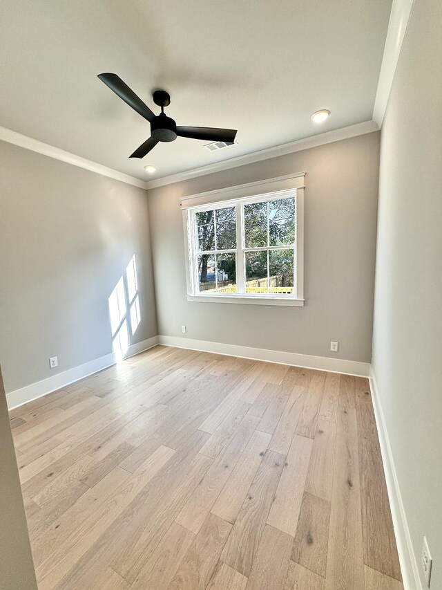
[[[356,125],[342,127],[341,129],[335,129],[334,131],[326,131],[325,133],[320,133],[316,136],[299,139],[283,145],[268,147],[267,149],[261,149],[260,151],[253,151],[251,154],[244,154],[244,156],[237,156],[236,158],[229,158],[229,160],[222,160],[221,162],[193,168],[184,172],[178,172],[177,174],[163,176],[162,178],[147,181],[146,188],[152,189],[180,181],[186,181],[189,180],[189,178],[196,178],[197,176],[204,176],[204,174],[213,174],[213,172],[221,172],[222,170],[228,170],[246,164],[253,164],[254,162],[268,160],[269,158],[277,158],[278,156],[293,154],[295,151],[309,149],[310,147],[318,147],[319,145],[325,145],[326,143],[364,135],[365,133],[372,133],[373,131],[379,131],[376,122],[364,121],[362,123],[357,123]]]

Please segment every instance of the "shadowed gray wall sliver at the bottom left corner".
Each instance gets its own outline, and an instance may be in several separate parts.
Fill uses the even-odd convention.
[[[0,587],[37,590],[0,368]]]

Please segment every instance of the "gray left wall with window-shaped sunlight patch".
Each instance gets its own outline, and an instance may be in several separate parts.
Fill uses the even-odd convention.
[[[0,142],[0,210],[6,391],[112,352],[108,297],[134,253],[133,342],[157,334],[146,191]]]

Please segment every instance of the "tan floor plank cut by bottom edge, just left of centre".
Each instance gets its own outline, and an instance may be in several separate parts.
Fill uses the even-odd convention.
[[[168,590],[205,589],[213,574],[231,524],[209,514],[204,525],[184,556]]]

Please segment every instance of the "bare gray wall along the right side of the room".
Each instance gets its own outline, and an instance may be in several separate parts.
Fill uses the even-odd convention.
[[[374,374],[419,571],[442,588],[442,3],[415,0],[381,138]],[[423,582],[425,588],[425,583]]]

